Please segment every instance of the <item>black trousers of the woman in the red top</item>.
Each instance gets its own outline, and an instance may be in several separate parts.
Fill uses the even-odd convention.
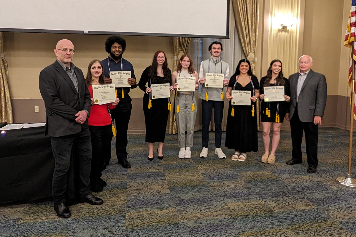
[[[94,184],[101,177],[101,171],[104,166],[104,160],[111,158],[111,124],[106,126],[89,126],[91,148],[90,184]]]

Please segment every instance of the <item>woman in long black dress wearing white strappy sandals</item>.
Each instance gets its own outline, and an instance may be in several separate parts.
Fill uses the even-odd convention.
[[[251,65],[247,59],[242,59],[236,72],[230,78],[226,91],[226,99],[230,101],[226,123],[225,146],[235,149],[231,160],[245,161],[246,152],[258,151],[256,98],[260,92],[255,75],[252,75]],[[251,105],[231,105],[231,91],[251,91]]]

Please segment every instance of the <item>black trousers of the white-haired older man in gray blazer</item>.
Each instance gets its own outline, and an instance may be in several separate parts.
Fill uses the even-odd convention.
[[[292,158],[302,162],[302,139],[305,133],[305,147],[307,150],[308,165],[318,166],[318,124],[313,122],[302,122],[298,115],[298,104],[292,119],[290,119],[290,133],[292,135]]]

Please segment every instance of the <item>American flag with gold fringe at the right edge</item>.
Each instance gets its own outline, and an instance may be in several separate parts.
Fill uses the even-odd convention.
[[[352,0],[351,3],[351,10],[350,10],[350,17],[349,21],[347,22],[347,29],[346,29],[346,34],[345,34],[345,42],[344,45],[349,47],[352,52],[351,52],[351,59],[350,59],[350,68],[349,68],[349,86],[351,87],[351,81],[352,81],[352,60],[356,62],[356,43],[355,42],[355,32],[356,32],[356,0]],[[355,63],[356,65],[356,63]],[[355,92],[356,92],[356,83],[354,85]],[[354,93],[355,93],[354,92]],[[355,93],[355,99],[356,99],[356,93]],[[355,105],[355,99],[353,101],[354,103],[354,119],[356,119],[356,105]],[[352,101],[351,101],[352,103]]]

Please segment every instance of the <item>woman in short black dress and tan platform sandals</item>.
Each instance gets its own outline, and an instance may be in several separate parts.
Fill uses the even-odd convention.
[[[284,86],[284,101],[267,102],[265,101],[265,93],[263,88],[267,86]],[[288,116],[289,112],[289,81],[283,77],[282,62],[274,59],[269,64],[267,75],[261,78],[260,81],[260,99],[261,99],[261,121],[263,128],[263,147],[265,153],[261,161],[263,163],[274,164],[276,161],[276,150],[279,144],[281,125],[284,117]],[[269,132],[271,131],[271,123],[273,128],[272,150],[269,154]]]

